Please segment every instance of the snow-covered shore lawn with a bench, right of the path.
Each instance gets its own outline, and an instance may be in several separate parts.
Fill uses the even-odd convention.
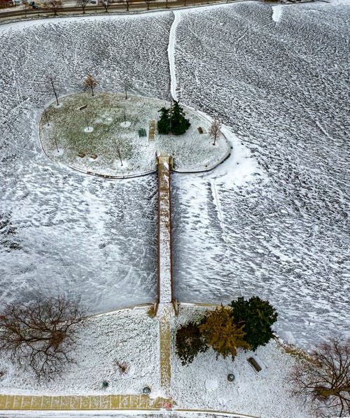
[[[290,396],[290,368],[295,359],[285,354],[272,340],[254,352],[238,350],[235,361],[223,359],[209,349],[198,354],[193,363],[183,366],[175,350],[176,329],[201,317],[208,308],[181,305],[173,320],[172,390],[177,408],[240,412],[256,417],[311,417],[300,400]],[[255,373],[246,361],[253,354],[265,368]],[[228,374],[235,381],[228,381]],[[199,408],[200,407],[200,408]]]

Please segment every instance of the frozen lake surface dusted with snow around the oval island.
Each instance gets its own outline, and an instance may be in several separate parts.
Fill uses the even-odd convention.
[[[176,298],[268,298],[276,331],[303,346],[346,332],[349,6],[281,6],[278,19],[260,2],[176,13],[172,89],[236,135],[216,170],[172,177]],[[155,175],[108,181],[57,166],[38,119],[52,74],[61,95],[82,91],[87,73],[122,92],[128,73],[132,94],[169,99],[173,21],[0,27],[1,303],[64,293],[97,312],[155,299]]]

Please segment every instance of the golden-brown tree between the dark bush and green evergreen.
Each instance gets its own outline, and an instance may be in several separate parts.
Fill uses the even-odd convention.
[[[216,358],[221,354],[225,359],[230,354],[234,360],[238,347],[250,348],[244,340],[243,326],[234,324],[231,310],[223,306],[209,312],[199,329],[204,341],[216,352]]]

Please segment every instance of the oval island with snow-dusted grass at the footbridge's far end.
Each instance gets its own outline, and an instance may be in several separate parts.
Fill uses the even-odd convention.
[[[82,93],[64,96],[59,103],[45,109],[50,129],[45,129],[46,116],[41,117],[41,146],[50,159],[87,174],[125,178],[153,173],[156,154],[172,156],[174,171],[208,171],[230,154],[223,134],[213,145],[210,118],[183,103],[190,128],[178,136],[157,130],[159,110],[170,108],[167,101]],[[55,152],[57,147],[63,152]]]

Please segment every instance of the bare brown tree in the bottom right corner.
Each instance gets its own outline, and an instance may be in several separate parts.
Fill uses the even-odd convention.
[[[350,415],[350,340],[331,338],[293,368],[293,394],[309,398],[318,417]]]

